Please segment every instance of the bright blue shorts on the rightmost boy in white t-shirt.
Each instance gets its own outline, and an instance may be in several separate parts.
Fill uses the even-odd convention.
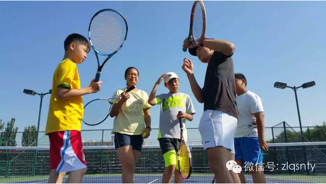
[[[234,138],[235,160],[242,160],[243,166],[263,163],[258,137]]]

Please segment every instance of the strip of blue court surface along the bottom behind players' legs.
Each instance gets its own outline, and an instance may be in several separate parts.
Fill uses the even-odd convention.
[[[135,176],[135,183],[162,183],[161,175],[141,175]],[[314,177],[314,179],[309,179],[309,177]],[[324,176],[323,179],[316,177],[320,176],[298,176],[298,175],[267,175],[266,181],[267,183],[321,183],[326,179]],[[2,178],[3,179],[3,178]],[[13,178],[11,178],[13,179]],[[30,180],[32,178],[26,178],[27,180],[23,180],[20,178],[19,181],[11,181],[6,183],[47,183],[47,179],[39,179],[39,180]],[[63,183],[66,183],[66,179],[64,178]],[[189,179],[184,179],[184,183],[211,183],[213,180],[213,176],[202,176],[202,175],[194,175],[190,176]],[[310,181],[309,181],[310,180]],[[315,182],[313,182],[315,180]],[[253,183],[253,179],[251,176],[246,175],[247,183]],[[3,183],[3,182],[2,182]],[[82,183],[122,183],[121,176],[85,176],[83,178]],[[174,183],[174,179],[172,178],[172,183]]]

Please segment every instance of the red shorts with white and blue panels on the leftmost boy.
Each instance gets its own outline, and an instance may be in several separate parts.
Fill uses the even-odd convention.
[[[48,134],[50,141],[50,170],[58,173],[86,168],[80,131],[68,130]]]

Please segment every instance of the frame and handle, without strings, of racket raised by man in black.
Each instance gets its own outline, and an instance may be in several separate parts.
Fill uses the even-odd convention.
[[[202,9],[203,14],[203,30],[202,30],[202,36],[200,36],[200,39],[198,41],[193,39],[193,17],[196,10],[197,3],[200,4],[200,7]],[[195,1],[191,8],[191,14],[190,14],[190,27],[189,27],[189,36],[188,36],[188,45],[194,43],[195,45],[201,45],[203,41],[205,40],[205,33],[206,33],[206,9],[203,1]],[[184,52],[187,51],[187,47],[182,48]]]

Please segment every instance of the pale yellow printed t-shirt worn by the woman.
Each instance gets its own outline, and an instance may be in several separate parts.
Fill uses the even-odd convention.
[[[118,89],[112,97],[119,96],[124,89]],[[144,109],[152,107],[147,102],[148,95],[145,91],[139,89],[137,92],[130,91],[129,94],[130,98],[123,103],[119,114],[114,117],[112,134],[117,132],[128,135],[140,135],[145,129]]]

